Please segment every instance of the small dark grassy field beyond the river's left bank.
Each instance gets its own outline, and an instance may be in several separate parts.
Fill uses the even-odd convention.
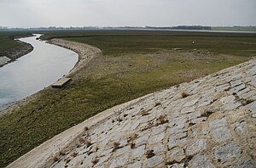
[[[27,31],[0,31],[0,57],[6,56],[5,51],[10,48],[17,48],[23,45],[22,42],[15,41],[16,37],[32,36]]]

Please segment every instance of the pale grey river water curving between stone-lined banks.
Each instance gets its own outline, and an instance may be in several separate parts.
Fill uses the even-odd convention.
[[[0,111],[67,75],[78,61],[77,53],[38,41],[38,36],[20,38],[33,51],[0,68]]]

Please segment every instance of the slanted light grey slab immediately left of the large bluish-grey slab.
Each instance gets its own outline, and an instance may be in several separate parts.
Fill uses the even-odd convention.
[[[186,149],[186,155],[194,155],[197,154],[207,148],[207,140],[199,139],[195,143],[190,144]]]

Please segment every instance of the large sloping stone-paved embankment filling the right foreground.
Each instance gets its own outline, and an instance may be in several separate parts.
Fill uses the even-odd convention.
[[[103,111],[9,167],[256,167],[255,123],[251,59]]]

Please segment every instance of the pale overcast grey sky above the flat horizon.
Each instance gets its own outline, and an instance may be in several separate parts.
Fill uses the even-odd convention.
[[[0,26],[256,25],[256,0],[0,0]]]

